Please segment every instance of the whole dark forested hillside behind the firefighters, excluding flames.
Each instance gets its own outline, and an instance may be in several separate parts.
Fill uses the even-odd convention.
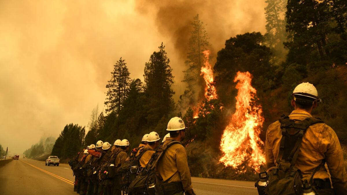
[[[288,3],[287,3],[288,2]],[[339,2],[339,3],[337,3]],[[218,163],[221,135],[235,109],[234,77],[237,71],[249,71],[257,90],[257,101],[265,118],[261,139],[266,128],[283,113],[289,114],[290,94],[301,82],[316,86],[322,102],[313,111],[347,144],[344,130],[347,121],[347,6],[342,1],[267,0],[265,8],[266,34],[247,32],[226,40],[217,53],[214,65],[218,100],[206,101],[202,51],[209,49],[209,37],[198,15],[192,22],[192,34],[187,44],[187,60],[183,82],[186,91],[178,103],[172,99],[173,76],[170,60],[163,44],[145,63],[144,82],[130,79],[125,59],[114,65],[106,86],[107,110],[92,111],[88,133],[78,125],[67,125],[57,139],[52,154],[71,158],[82,147],[97,140],[111,144],[116,139],[128,139],[136,147],[141,137],[156,131],[163,137],[171,117],[183,117],[186,126],[186,149],[193,176],[252,179],[251,168],[245,174]],[[285,15],[285,17],[280,17]],[[204,101],[200,108],[198,102]],[[211,106],[213,105],[213,106]],[[220,109],[223,105],[223,109]],[[199,117],[193,118],[193,110]],[[193,142],[190,143],[190,141]],[[188,145],[189,144],[189,145]]]

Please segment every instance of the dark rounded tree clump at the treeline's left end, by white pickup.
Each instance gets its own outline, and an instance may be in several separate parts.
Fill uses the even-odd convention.
[[[52,154],[60,159],[73,158],[77,152],[86,147],[84,142],[85,127],[69,124],[64,127],[53,145]]]

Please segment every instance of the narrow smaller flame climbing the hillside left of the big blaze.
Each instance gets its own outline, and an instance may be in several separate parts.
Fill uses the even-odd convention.
[[[204,66],[201,67],[201,74],[204,77],[206,87],[205,87],[205,98],[207,101],[217,99],[217,92],[214,87],[214,80],[213,80],[213,70],[212,66],[209,62],[210,60],[210,51],[205,50],[202,52],[204,54],[205,60],[204,60]],[[203,103],[200,103],[202,106],[204,105]],[[198,118],[198,108],[195,109],[194,112],[194,118]]]

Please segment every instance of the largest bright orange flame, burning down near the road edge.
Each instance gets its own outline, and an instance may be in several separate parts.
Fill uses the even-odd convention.
[[[249,72],[237,72],[234,79],[234,82],[238,82],[236,111],[224,130],[220,144],[223,156],[219,161],[226,167],[237,168],[244,163],[259,171],[265,163],[261,149],[263,142],[259,138],[264,118],[261,116],[261,106],[255,104],[256,90],[251,81]]]

